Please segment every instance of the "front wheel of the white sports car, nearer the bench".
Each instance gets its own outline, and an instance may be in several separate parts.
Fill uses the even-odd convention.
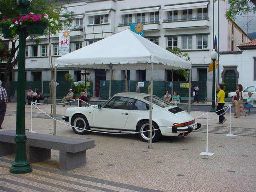
[[[75,115],[71,120],[72,130],[79,135],[86,134],[90,130],[89,123],[85,116]]]

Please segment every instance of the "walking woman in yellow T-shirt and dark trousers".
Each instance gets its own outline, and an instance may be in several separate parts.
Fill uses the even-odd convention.
[[[215,106],[216,108],[216,114],[219,116],[219,122],[217,124],[223,124],[227,119],[224,117],[225,111],[223,110],[224,104],[225,104],[225,92],[224,92],[224,85],[218,84],[218,89],[220,90],[217,94],[217,101]]]

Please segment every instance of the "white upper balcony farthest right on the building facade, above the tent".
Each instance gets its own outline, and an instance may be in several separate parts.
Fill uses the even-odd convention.
[[[164,20],[163,29],[172,30],[177,28],[209,28],[209,18],[196,17],[186,19]]]

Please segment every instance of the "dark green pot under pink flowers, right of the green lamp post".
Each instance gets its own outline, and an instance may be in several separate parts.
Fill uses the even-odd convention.
[[[43,36],[46,29],[46,22],[28,22],[27,23],[28,34],[30,36]]]

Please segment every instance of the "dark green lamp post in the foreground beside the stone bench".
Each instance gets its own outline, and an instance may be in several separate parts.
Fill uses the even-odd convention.
[[[32,0],[17,0],[20,15],[26,15]],[[32,167],[26,157],[26,133],[25,133],[25,54],[26,54],[26,25],[21,25],[19,31],[19,55],[18,55],[18,91],[16,112],[16,153],[15,160],[10,168],[11,173],[24,174],[32,172]]]

